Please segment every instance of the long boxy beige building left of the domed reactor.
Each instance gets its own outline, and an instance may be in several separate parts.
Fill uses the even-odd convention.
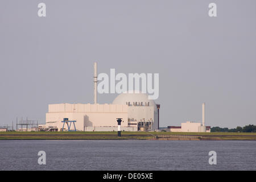
[[[122,127],[128,127],[127,105],[112,104],[51,104],[46,113],[46,127],[63,129],[63,119],[76,121],[77,131],[113,131],[117,130],[117,118],[122,118]],[[73,123],[71,130],[75,130]],[[64,131],[68,130],[67,124]],[[129,130],[129,129],[126,129]],[[133,129],[130,129],[133,130]]]

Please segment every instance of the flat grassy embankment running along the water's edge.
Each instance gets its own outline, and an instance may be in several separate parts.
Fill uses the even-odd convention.
[[[117,132],[0,132],[0,140],[148,140],[161,136],[167,139],[183,140],[188,138],[210,140],[256,140],[256,133],[174,133],[174,132],[122,132],[122,137],[117,137]],[[157,137],[156,137],[157,136]]]

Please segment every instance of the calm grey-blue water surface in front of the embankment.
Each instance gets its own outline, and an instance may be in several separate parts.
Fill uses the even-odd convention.
[[[3,140],[0,170],[256,170],[256,141]]]

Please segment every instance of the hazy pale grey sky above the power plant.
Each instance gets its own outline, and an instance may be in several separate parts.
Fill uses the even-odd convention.
[[[38,3],[46,3],[46,17]],[[210,2],[217,17],[208,16]],[[159,73],[160,126],[256,124],[256,1],[0,1],[0,125],[93,103],[98,72]],[[117,94],[101,94],[111,103]]]

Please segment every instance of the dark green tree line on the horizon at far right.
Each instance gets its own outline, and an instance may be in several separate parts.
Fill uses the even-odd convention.
[[[245,132],[245,133],[256,133],[256,126],[255,125],[246,125],[246,126],[237,126],[236,129],[228,129],[227,127],[221,128],[221,127],[212,127],[210,129],[210,132]]]

